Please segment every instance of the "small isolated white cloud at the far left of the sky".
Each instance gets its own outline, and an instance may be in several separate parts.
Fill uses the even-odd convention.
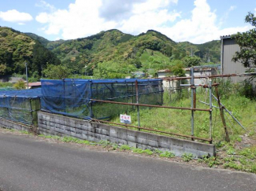
[[[33,20],[33,17],[30,14],[20,13],[16,9],[8,10],[6,12],[0,11],[0,18],[4,21],[17,24],[24,24],[24,22]]]

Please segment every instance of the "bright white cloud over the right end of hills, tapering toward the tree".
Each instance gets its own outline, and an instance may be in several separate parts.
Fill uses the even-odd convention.
[[[177,42],[202,43],[220,39],[221,35],[232,35],[237,31],[250,29],[247,26],[221,29],[216,13],[210,10],[206,0],[195,0],[194,5],[190,19],[180,20],[173,27],[158,28],[158,31]]]

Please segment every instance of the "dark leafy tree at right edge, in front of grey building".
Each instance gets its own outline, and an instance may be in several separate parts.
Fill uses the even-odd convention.
[[[236,39],[236,43],[240,46],[240,51],[235,53],[232,61],[239,61],[247,68],[256,66],[256,17],[249,12],[245,17],[245,22],[251,24],[254,28],[232,35],[232,38]]]

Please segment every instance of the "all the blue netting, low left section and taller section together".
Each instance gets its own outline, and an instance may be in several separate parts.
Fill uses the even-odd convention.
[[[134,109],[132,105],[113,105],[91,99],[162,105],[161,79],[42,79],[42,88],[0,92],[0,117],[35,124],[37,111],[80,119],[106,119]]]

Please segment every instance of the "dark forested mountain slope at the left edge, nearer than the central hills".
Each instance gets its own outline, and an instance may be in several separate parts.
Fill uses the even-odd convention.
[[[12,28],[0,27],[0,75],[24,74],[25,62],[30,75],[41,75],[47,63],[61,64],[54,53],[39,41]]]

